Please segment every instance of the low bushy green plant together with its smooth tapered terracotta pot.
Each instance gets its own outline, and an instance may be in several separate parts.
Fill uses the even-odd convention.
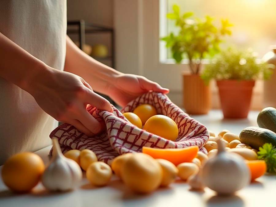
[[[217,80],[224,118],[246,118],[255,80],[269,79],[272,74],[271,64],[256,61],[252,51],[228,48],[202,72],[206,83]]]

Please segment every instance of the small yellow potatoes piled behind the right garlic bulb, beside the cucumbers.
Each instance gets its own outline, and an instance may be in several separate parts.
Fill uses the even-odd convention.
[[[217,153],[216,140],[220,138],[224,143],[225,149],[228,151],[240,154],[247,160],[256,160],[258,158],[257,150],[252,149],[247,144],[241,143],[238,135],[231,133],[226,129],[222,130],[218,136],[216,136],[216,134],[211,131],[209,131],[209,135],[209,140],[204,145],[208,151],[208,157],[211,157]]]

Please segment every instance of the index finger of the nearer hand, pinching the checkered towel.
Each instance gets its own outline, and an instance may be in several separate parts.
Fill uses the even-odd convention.
[[[88,93],[86,94],[84,101],[88,104],[93,105],[97,109],[113,112],[111,103],[107,101],[105,98],[103,98],[102,96],[100,96],[99,94],[96,94],[91,90],[89,90]]]

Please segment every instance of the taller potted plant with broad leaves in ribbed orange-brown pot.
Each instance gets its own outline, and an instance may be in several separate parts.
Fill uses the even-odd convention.
[[[162,40],[166,47],[171,48],[172,56],[176,63],[181,63],[183,58],[188,59],[190,73],[183,73],[183,106],[187,113],[206,114],[211,107],[209,86],[205,85],[199,76],[202,59],[215,55],[220,51],[219,45],[222,37],[231,35],[228,20],[221,20],[220,28],[213,24],[213,18],[194,18],[192,12],[180,14],[179,7],[173,6],[173,13],[168,13],[167,18],[174,20],[179,28],[177,34],[170,33]]]

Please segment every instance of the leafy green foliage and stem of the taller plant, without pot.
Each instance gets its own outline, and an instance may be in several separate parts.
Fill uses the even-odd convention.
[[[228,20],[221,20],[221,27],[217,28],[213,24],[212,17],[189,19],[193,15],[192,12],[181,15],[179,7],[174,5],[173,13],[168,13],[167,18],[175,21],[179,33],[170,33],[161,40],[166,41],[167,48],[171,48],[176,63],[180,63],[185,54],[189,59],[191,72],[198,74],[201,60],[207,55],[213,56],[220,51],[221,38],[231,35],[229,27],[232,24]]]

